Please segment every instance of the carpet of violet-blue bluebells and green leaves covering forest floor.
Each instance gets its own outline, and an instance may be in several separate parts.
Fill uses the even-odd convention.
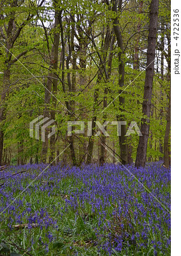
[[[46,167],[0,172],[1,255],[170,255],[160,162],[127,167],[140,183],[116,164]]]

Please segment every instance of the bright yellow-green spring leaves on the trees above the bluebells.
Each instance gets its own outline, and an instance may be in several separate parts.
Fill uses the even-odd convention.
[[[170,5],[169,1],[160,1],[159,3],[159,27],[165,26],[166,35],[170,33]],[[1,121],[1,129],[4,132],[3,159],[9,158],[9,162],[15,163],[15,159],[23,158],[27,163],[30,158],[35,162],[41,156],[41,142],[29,136],[29,123],[40,114],[44,114],[45,108],[48,112],[56,112],[56,149],[64,149],[68,143],[67,121],[91,121],[92,116],[103,123],[104,116],[110,121],[116,121],[116,115],[121,115],[122,110],[119,102],[119,72],[118,72],[118,53],[115,40],[112,50],[112,70],[109,79],[106,78],[105,69],[108,69],[108,56],[110,55],[110,45],[106,48],[106,36],[113,33],[113,19],[118,18],[119,26],[123,37],[124,52],[121,52],[122,60],[125,65],[124,86],[121,88],[124,92],[124,119],[127,121],[127,128],[131,121],[136,121],[141,125],[142,102],[144,93],[145,67],[146,67],[146,47],[149,23],[149,6],[143,3],[142,11],[138,7],[137,1],[128,1],[123,10],[115,13],[106,2],[100,1],[58,1],[55,6],[54,1],[44,3],[37,7],[35,2],[18,1],[18,6],[13,6],[9,2],[1,10],[4,19],[0,20],[0,26],[6,37],[6,27],[10,19],[14,19],[14,31],[12,36],[18,31],[23,23],[22,30],[16,38],[10,52],[0,46],[0,91],[3,93],[4,72],[9,63],[10,79],[9,89],[6,100],[1,102],[1,107],[5,107],[5,118]],[[62,18],[62,28],[60,24],[54,28],[54,10],[59,12],[59,18]],[[71,13],[71,16],[70,16]],[[31,18],[30,18],[31,16]],[[72,19],[74,17],[74,20]],[[30,18],[30,19],[29,19]],[[138,25],[140,30],[138,31]],[[73,39],[73,52],[70,51],[71,31],[75,27]],[[61,31],[63,29],[63,31]],[[165,30],[164,30],[165,31]],[[62,69],[62,39],[58,46],[57,70],[52,66],[51,51],[53,47],[54,34],[63,32],[65,43],[65,69]],[[2,33],[2,32],[1,32]],[[165,32],[164,32],[165,33]],[[162,30],[158,30],[158,47],[160,53]],[[7,47],[9,39],[1,38],[1,43]],[[166,40],[166,38],[165,38]],[[139,69],[133,69],[134,53],[136,43],[139,49]],[[110,44],[110,42],[109,42]],[[166,43],[167,44],[167,43]],[[24,53],[17,61],[15,57]],[[73,68],[73,53],[76,59],[76,68]],[[10,58],[11,56],[11,58]],[[69,64],[67,60],[70,56]],[[10,58],[10,59],[9,59]],[[100,61],[103,61],[101,63]],[[166,59],[167,56],[164,56]],[[16,60],[16,61],[14,61]],[[168,61],[168,59],[167,59]],[[152,156],[158,160],[162,153],[159,152],[159,143],[163,144],[165,134],[167,106],[169,95],[167,67],[164,67],[164,77],[159,71],[154,77],[153,98],[151,111],[153,115],[150,118],[150,137],[148,142],[148,157]],[[85,66],[82,65],[85,64]],[[98,75],[102,73],[98,82]],[[62,77],[64,75],[65,92],[62,86]],[[68,76],[73,81],[75,76],[75,92],[71,91],[68,85]],[[57,98],[56,108],[51,100],[45,102],[45,88],[48,82],[48,76],[54,76],[58,80],[57,92],[54,96]],[[94,93],[98,89],[98,99],[95,102]],[[104,113],[103,100],[105,90],[107,89],[106,100],[110,104]],[[52,92],[52,88],[50,88]],[[58,101],[60,101],[58,103]],[[113,101],[113,103],[111,103]],[[73,106],[74,114],[69,117],[67,104]],[[87,129],[87,128],[86,128]],[[96,128],[97,129],[97,128]],[[114,128],[108,128],[111,136],[107,138],[107,144],[115,143],[115,151],[119,154],[119,143],[117,131]],[[85,151],[89,138],[83,135],[74,135],[75,148]],[[95,145],[98,146],[99,137],[94,138]],[[136,158],[138,137],[132,135],[128,142],[133,146],[132,158]],[[83,146],[80,146],[84,145]],[[155,146],[156,145],[156,146]],[[20,149],[21,147],[21,149]],[[153,149],[154,148],[154,149]],[[11,152],[11,154],[10,154]],[[49,154],[49,153],[48,153]],[[96,153],[94,152],[94,155]],[[69,156],[68,156],[69,158]],[[108,161],[111,158],[107,159]]]

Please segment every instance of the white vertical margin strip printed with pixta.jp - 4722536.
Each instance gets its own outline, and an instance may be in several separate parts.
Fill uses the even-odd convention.
[[[180,255],[181,245],[181,139],[180,139],[180,103],[181,103],[181,75],[174,74],[174,10],[179,9],[179,39],[178,49],[181,52],[181,2],[171,1],[171,255]],[[181,73],[181,55],[179,61]]]

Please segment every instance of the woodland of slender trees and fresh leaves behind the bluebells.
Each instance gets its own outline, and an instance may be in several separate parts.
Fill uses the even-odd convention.
[[[116,157],[136,166],[164,160],[169,167],[170,1],[0,5],[0,165],[52,162],[71,143],[56,162],[79,166]],[[30,137],[39,115],[56,120],[56,134],[45,142]],[[92,121],[92,137],[86,129],[68,137],[68,121]],[[121,137],[109,125],[110,137],[95,137],[95,121],[127,121],[127,127]],[[142,138],[125,137],[132,121]]]

